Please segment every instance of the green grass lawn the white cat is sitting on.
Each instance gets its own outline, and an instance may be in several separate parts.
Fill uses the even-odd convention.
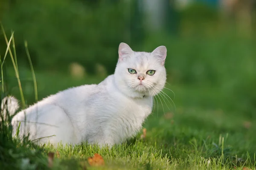
[[[9,71],[9,74],[12,72]],[[20,77],[29,77],[20,71]],[[72,79],[64,74],[36,73],[38,98],[68,87],[99,83],[104,78]],[[7,79],[9,94],[19,96],[17,80]],[[33,101],[33,82],[21,79],[25,99]],[[0,142],[0,167],[4,169],[47,169],[48,154],[55,153],[52,169],[255,169],[256,121],[236,111],[236,99],[218,88],[166,85],[164,90],[176,105],[158,97],[154,112],[143,130],[128,142],[109,148],[87,144],[76,146],[34,146],[3,138]],[[167,107],[167,105],[168,107]],[[57,152],[58,151],[58,152]],[[99,153],[102,167],[92,167],[87,158]],[[1,168],[0,168],[1,169]]]

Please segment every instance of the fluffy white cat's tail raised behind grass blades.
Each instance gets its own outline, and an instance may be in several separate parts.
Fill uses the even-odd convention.
[[[20,108],[18,100],[14,96],[6,96],[1,101],[1,113],[0,120],[6,119],[7,114],[12,116]]]

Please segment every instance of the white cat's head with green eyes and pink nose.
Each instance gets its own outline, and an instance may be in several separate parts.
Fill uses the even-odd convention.
[[[158,94],[166,83],[166,52],[165,46],[157,47],[151,53],[136,52],[121,42],[114,74],[119,90],[131,97]]]

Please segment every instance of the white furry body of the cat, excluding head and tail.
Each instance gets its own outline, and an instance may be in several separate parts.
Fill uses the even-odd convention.
[[[70,88],[31,106],[26,110],[26,132],[29,130],[31,139],[56,135],[41,142],[73,144],[114,144],[135,135],[151,113],[151,96],[131,99],[116,91],[113,81],[111,75],[99,85]],[[12,125],[20,119],[24,119],[22,112],[12,119]]]

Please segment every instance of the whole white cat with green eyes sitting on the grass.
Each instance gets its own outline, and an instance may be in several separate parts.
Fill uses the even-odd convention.
[[[13,135],[20,122],[20,136],[29,132],[31,140],[42,138],[35,140],[38,144],[88,142],[111,146],[131,138],[151,113],[153,96],[164,88],[166,52],[165,46],[151,53],[135,52],[120,43],[113,75],[98,85],[58,92],[20,111],[12,119]],[[10,99],[10,111],[14,112],[17,102]]]

